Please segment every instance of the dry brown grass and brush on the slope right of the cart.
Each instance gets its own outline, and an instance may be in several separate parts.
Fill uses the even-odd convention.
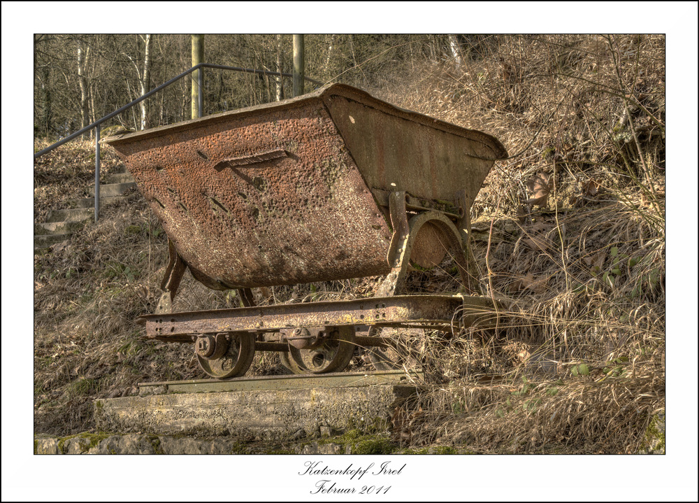
[[[405,405],[398,438],[637,451],[665,396],[663,37],[494,37],[461,68],[416,73],[384,96],[510,152],[471,243],[482,291],[507,309],[495,333],[424,348],[439,382]]]

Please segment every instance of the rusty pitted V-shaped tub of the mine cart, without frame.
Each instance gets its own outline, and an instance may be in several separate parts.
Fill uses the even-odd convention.
[[[388,274],[389,193],[463,217],[507,156],[493,136],[341,84],[107,143],[218,290]]]

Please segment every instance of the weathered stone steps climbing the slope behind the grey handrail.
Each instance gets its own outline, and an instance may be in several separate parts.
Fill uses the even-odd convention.
[[[136,188],[134,178],[127,172],[103,176],[100,184],[100,208],[115,204],[124,194]],[[46,221],[34,223],[34,252],[49,248],[65,241],[87,222],[94,221],[94,187],[90,187],[93,197],[70,201],[69,208],[49,211]]]

